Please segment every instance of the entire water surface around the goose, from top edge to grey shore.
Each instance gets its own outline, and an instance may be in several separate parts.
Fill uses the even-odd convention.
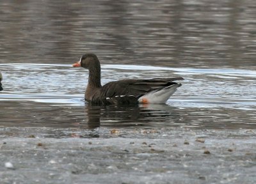
[[[3,1],[0,127],[255,129],[252,0]],[[165,105],[91,107],[82,54],[102,83],[184,77]]]

